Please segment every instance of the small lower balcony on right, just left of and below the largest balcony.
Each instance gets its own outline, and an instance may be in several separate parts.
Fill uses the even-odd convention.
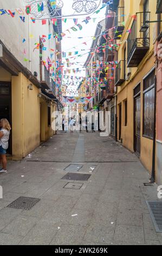
[[[118,66],[116,66],[115,72],[115,86],[121,86],[121,84],[125,81],[125,60],[120,60]]]

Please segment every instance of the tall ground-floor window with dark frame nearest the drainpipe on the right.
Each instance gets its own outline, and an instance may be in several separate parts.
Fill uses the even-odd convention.
[[[144,80],[143,135],[153,139],[154,132],[154,83],[155,72],[152,71]]]

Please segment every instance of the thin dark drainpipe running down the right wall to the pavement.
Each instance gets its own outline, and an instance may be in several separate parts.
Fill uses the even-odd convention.
[[[156,108],[157,108],[157,76],[154,85],[154,124],[153,124],[153,151],[152,151],[152,173],[150,183],[155,182],[155,143],[156,143]]]

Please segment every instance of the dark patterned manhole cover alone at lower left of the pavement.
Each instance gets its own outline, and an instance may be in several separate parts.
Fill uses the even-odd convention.
[[[30,210],[35,204],[37,204],[41,199],[32,197],[19,197],[14,202],[9,204],[7,207]]]

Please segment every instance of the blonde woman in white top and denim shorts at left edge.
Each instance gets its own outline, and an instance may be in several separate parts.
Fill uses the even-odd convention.
[[[5,154],[7,153],[7,149],[9,145],[8,141],[9,141],[11,126],[9,124],[9,121],[3,118],[0,121],[0,127],[2,127],[2,129],[0,130],[0,162],[2,162],[2,167],[3,167],[2,169],[0,169],[0,173],[6,173],[7,159]]]

